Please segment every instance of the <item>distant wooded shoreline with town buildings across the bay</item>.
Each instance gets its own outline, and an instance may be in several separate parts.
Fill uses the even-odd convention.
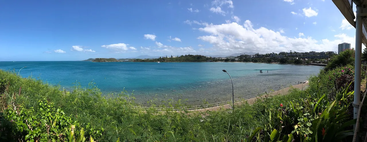
[[[323,52],[279,52],[279,53],[266,53],[254,55],[247,55],[241,53],[239,56],[226,56],[226,57],[213,57],[213,56],[202,56],[202,55],[166,55],[160,56],[159,58],[149,59],[115,59],[115,58],[96,58],[88,59],[85,61],[94,62],[254,62],[254,63],[287,63],[287,64],[319,64],[323,66],[333,58],[333,56],[342,53],[345,50],[350,50],[349,43],[341,43],[337,47],[337,51],[323,51]]]

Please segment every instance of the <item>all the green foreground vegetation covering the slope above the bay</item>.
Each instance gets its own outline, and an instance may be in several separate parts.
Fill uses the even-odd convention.
[[[347,65],[321,70],[306,90],[236,105],[234,111],[160,112],[154,100],[146,110],[132,107],[137,104],[126,91],[102,95],[92,83],[66,91],[0,71],[0,141],[346,142],[356,121],[353,77]],[[182,100],[167,102],[185,106]]]

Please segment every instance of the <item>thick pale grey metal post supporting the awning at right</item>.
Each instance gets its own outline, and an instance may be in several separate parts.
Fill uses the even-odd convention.
[[[356,53],[355,53],[355,64],[354,64],[354,102],[353,102],[353,119],[358,117],[358,109],[360,104],[361,95],[361,53],[362,53],[362,17],[361,6],[356,5]],[[354,125],[354,128],[356,124]],[[354,129],[353,129],[354,130]],[[356,139],[358,141],[358,139]]]

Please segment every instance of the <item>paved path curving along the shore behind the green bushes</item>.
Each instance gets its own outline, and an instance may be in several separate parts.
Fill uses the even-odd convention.
[[[298,84],[298,85],[294,85],[292,86],[293,88],[296,89],[301,89],[301,88],[305,88],[306,86],[308,86],[308,82],[307,83],[303,83],[303,84]],[[284,95],[286,93],[288,93],[288,91],[292,88],[292,87],[288,87],[288,88],[284,88],[278,91],[274,91],[268,95],[263,95],[263,96],[259,96],[256,98],[251,98],[242,102],[237,102],[235,103],[235,105],[241,105],[242,103],[246,103],[248,102],[248,104],[253,104],[258,98],[264,98],[267,96],[275,96],[275,95]],[[206,111],[217,111],[219,109],[227,109],[227,108],[232,108],[229,104],[228,105],[223,105],[223,106],[215,106],[212,108],[204,108],[204,109],[196,109],[196,110],[190,110],[190,111],[199,111],[199,112],[206,112]]]

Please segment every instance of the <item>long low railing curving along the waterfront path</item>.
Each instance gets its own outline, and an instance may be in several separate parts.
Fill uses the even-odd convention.
[[[259,97],[259,96],[263,96],[266,94],[270,94],[273,93],[275,91],[279,91],[279,90],[283,90],[286,89],[288,87],[294,86],[294,85],[298,85],[298,84],[302,84],[302,82],[298,82],[298,83],[292,83],[290,85],[286,85],[286,86],[282,86],[279,88],[275,88],[275,89],[270,89],[270,91],[264,91],[258,94],[254,94],[254,95],[250,95],[250,96],[246,96],[246,97],[241,97],[241,98],[237,98],[235,99],[235,103],[238,102],[243,102],[255,97]],[[305,86],[304,86],[305,87]],[[135,108],[135,109],[149,109],[149,108],[153,108],[153,109],[157,109],[160,111],[164,111],[166,109],[169,109],[170,111],[182,111],[182,110],[187,110],[187,111],[195,111],[195,110],[199,110],[199,109],[207,109],[207,108],[214,108],[214,107],[218,107],[218,106],[224,106],[224,105],[228,105],[231,104],[230,102],[232,101],[222,101],[222,102],[216,102],[216,103],[212,103],[212,104],[205,104],[205,105],[195,105],[195,106],[179,106],[179,107],[146,107],[146,106],[130,106],[131,108]]]

